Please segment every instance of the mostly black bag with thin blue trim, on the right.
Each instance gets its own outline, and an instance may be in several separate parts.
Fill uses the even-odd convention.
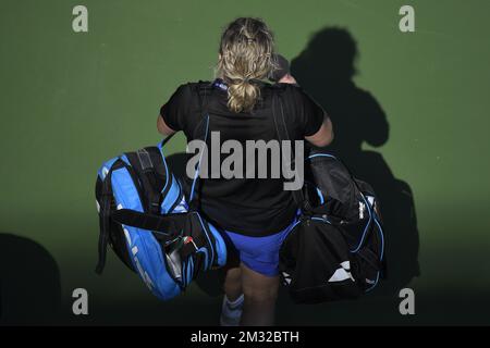
[[[281,101],[291,100],[284,94],[274,103],[281,107]],[[278,105],[273,109],[279,139],[289,139],[282,108],[280,115]],[[317,303],[357,298],[372,290],[385,270],[375,191],[322,149],[306,151],[304,182],[303,189],[292,191],[299,220],[280,249],[281,278],[292,299]]]

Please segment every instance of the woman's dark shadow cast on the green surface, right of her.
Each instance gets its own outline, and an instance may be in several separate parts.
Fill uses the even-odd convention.
[[[327,149],[339,156],[357,178],[369,183],[378,196],[388,277],[377,293],[393,295],[420,275],[415,206],[409,185],[394,177],[381,153],[362,148],[364,142],[384,145],[389,124],[375,97],[353,82],[357,57],[356,42],[346,29],[326,27],[292,61],[291,73],[332,120],[334,140]]]

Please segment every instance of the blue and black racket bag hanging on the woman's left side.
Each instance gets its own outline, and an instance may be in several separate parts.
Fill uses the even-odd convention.
[[[220,233],[189,209],[192,202],[187,204],[181,183],[167,165],[166,140],[107,161],[96,183],[100,222],[96,272],[103,270],[109,245],[162,300],[182,293],[199,272],[226,261]]]

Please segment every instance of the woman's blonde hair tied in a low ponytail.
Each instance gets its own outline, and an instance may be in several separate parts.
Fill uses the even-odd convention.
[[[249,112],[260,98],[257,80],[277,69],[273,35],[260,18],[240,17],[221,36],[217,73],[228,84],[228,107]]]

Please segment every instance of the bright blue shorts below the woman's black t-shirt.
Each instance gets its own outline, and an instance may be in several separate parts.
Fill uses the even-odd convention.
[[[230,231],[224,232],[229,243],[236,249],[240,260],[248,269],[267,276],[275,276],[279,274],[279,249],[295,223],[296,220],[283,231],[266,237],[249,237]]]

